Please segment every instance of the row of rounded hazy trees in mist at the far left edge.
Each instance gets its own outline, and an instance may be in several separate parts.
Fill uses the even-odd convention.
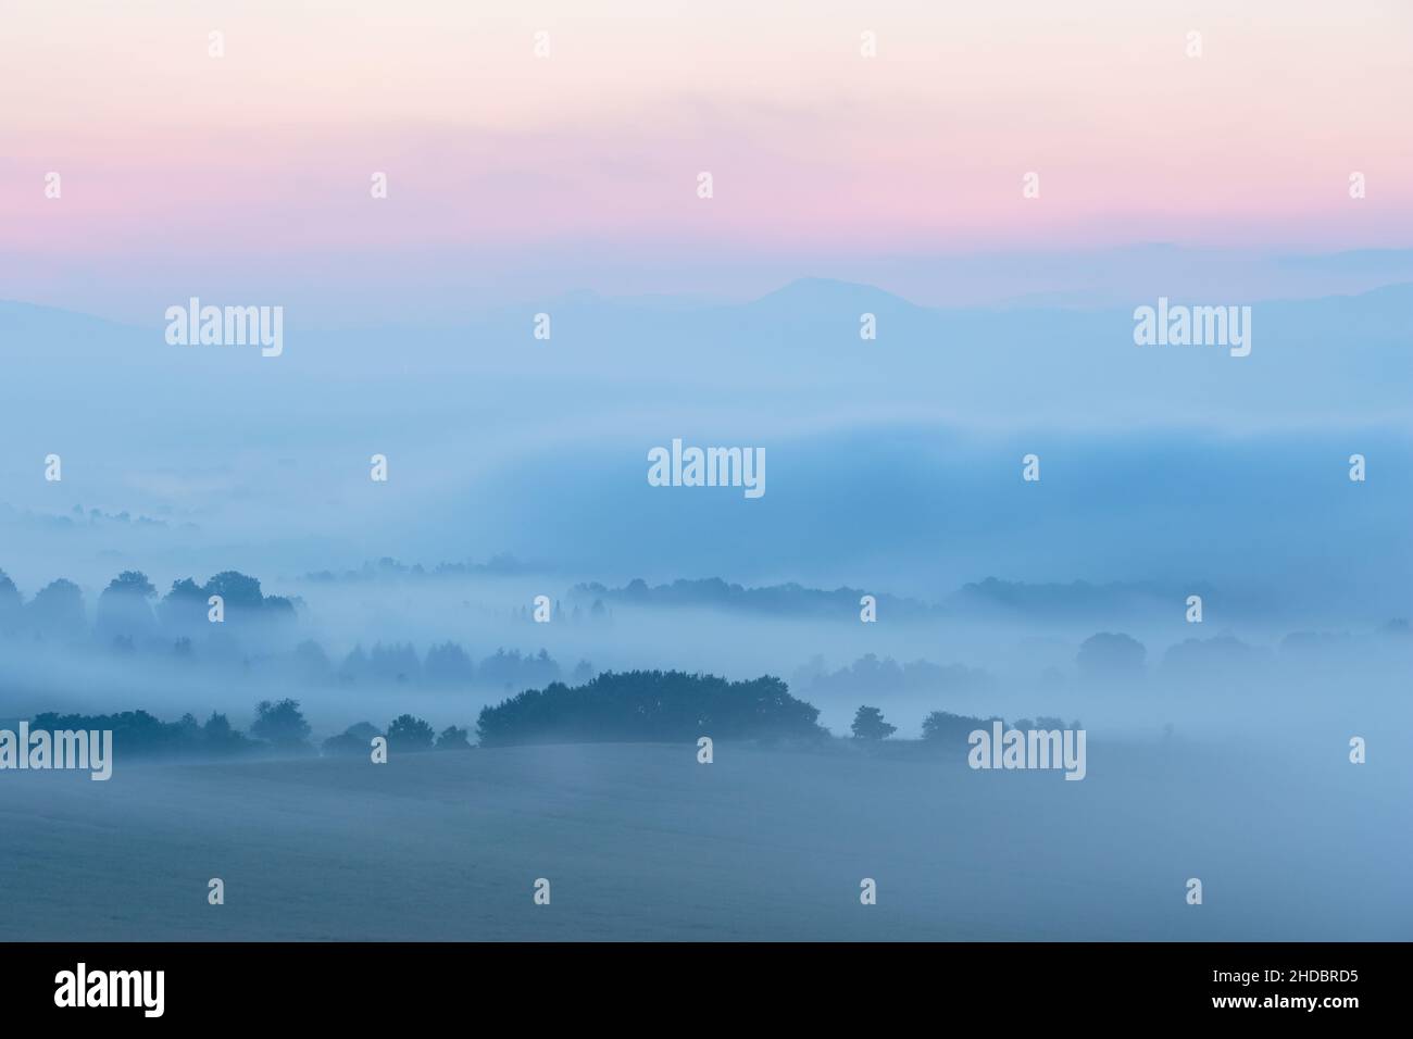
[[[27,636],[76,642],[89,636],[103,645],[167,646],[211,633],[212,597],[220,598],[226,630],[276,630],[294,621],[295,599],[264,595],[260,581],[235,570],[216,574],[205,584],[192,578],[174,581],[158,597],[147,575],[124,570],[99,597],[92,626],[83,591],[65,578],[51,581],[28,602],[14,581],[0,571],[0,636]]]

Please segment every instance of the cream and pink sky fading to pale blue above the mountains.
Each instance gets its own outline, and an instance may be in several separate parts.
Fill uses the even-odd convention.
[[[749,294],[899,257],[1413,245],[1413,4],[581,8],[6,0],[0,298],[417,308]]]

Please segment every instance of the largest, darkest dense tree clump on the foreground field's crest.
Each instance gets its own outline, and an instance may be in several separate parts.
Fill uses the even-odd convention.
[[[684,671],[605,671],[592,681],[543,690],[485,707],[483,746],[514,744],[818,739],[820,711],[796,700],[780,679],[728,681]]]

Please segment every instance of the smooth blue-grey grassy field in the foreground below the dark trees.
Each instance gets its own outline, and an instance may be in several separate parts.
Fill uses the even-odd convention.
[[[0,939],[1406,940],[1407,789],[1139,745],[1084,782],[906,746],[120,759],[0,773]]]

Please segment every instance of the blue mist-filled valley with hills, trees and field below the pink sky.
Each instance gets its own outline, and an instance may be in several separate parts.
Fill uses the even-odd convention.
[[[1406,301],[1246,358],[828,281],[278,358],[6,304],[0,729],[117,732],[0,776],[4,934],[1407,937]]]

